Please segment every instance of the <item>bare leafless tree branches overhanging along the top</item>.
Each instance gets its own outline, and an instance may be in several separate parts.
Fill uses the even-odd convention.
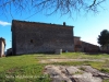
[[[102,8],[101,3],[106,0],[0,0],[0,10],[2,14],[23,11],[29,12],[34,10],[33,15],[39,11],[50,15],[60,13],[61,15],[80,13],[80,12],[98,12],[98,8]],[[14,11],[12,11],[14,10]]]

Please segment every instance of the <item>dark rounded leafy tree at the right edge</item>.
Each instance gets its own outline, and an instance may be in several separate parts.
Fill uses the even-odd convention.
[[[98,44],[101,46],[107,46],[109,44],[109,31],[104,30],[100,32],[100,35],[98,35]]]

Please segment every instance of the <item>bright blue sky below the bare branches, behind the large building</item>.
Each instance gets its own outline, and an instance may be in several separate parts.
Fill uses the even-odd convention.
[[[60,16],[59,13],[47,16],[45,13],[39,12],[35,15],[32,13],[22,13],[22,15],[15,13],[11,16],[9,13],[0,15],[0,37],[5,38],[8,48],[12,47],[12,34],[11,34],[11,22],[12,20],[31,21],[31,22],[43,22],[52,24],[63,24],[74,26],[74,36],[81,37],[81,40],[98,45],[97,38],[102,30],[109,31],[109,0],[108,3],[104,4],[106,10],[101,10],[99,13],[87,13],[82,15],[73,14],[73,19],[69,14]],[[3,12],[2,10],[0,12]],[[14,11],[13,11],[14,12]]]

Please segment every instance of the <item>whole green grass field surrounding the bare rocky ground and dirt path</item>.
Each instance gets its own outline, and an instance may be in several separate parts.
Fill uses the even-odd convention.
[[[47,59],[88,59],[88,61],[66,61],[41,63]],[[89,60],[104,61],[89,61]],[[49,75],[45,75],[44,68],[47,65],[82,66],[88,65],[102,72],[109,73],[109,55],[86,55],[84,52],[63,52],[62,55],[22,55],[0,58],[0,82],[50,82]],[[109,82],[105,80],[104,82]]]

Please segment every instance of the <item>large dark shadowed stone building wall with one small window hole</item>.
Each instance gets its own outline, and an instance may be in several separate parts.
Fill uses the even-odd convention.
[[[12,21],[12,54],[74,51],[73,26]]]

